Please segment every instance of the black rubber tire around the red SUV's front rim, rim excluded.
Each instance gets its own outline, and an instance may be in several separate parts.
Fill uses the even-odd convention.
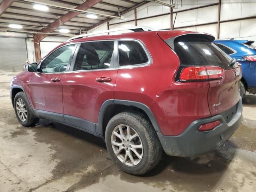
[[[18,112],[16,110],[16,102],[17,102],[18,99],[22,99],[24,101],[24,104],[25,104],[26,114],[27,114],[27,117],[26,117],[25,121],[22,121],[20,119],[20,117],[18,116]],[[34,116],[34,114],[32,112],[32,109],[30,108],[30,104],[28,102],[28,99],[27,99],[26,95],[24,94],[24,92],[18,92],[16,94],[16,96],[14,97],[14,110],[15,110],[16,118],[18,119],[20,124],[22,124],[25,127],[34,126],[39,121],[39,118]]]

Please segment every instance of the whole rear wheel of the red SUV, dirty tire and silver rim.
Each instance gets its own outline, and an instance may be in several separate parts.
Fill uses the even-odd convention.
[[[105,139],[110,157],[128,174],[149,172],[162,155],[162,146],[152,124],[140,113],[115,115],[108,122]]]

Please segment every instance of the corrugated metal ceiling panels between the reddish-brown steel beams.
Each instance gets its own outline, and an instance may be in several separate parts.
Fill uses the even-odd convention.
[[[145,0],[102,0],[87,11],[114,16],[118,14],[118,11],[120,14],[122,14],[123,11],[144,1]],[[2,2],[3,0],[0,0],[0,3]],[[44,0],[43,2],[66,8],[76,8],[85,1]],[[8,30],[9,24],[21,24],[23,27],[22,30],[38,31],[43,27],[48,26],[48,24],[54,22],[54,20],[60,18],[64,14],[68,13],[66,10],[53,7],[49,7],[47,12],[34,10],[33,5],[34,4],[30,2],[19,0],[14,1],[11,6],[0,16],[0,31]],[[98,16],[97,19],[90,19],[86,17],[86,14],[82,13],[60,26],[60,28],[67,28],[71,30],[71,33],[78,33],[79,30],[86,31],[88,28],[97,25],[107,18],[108,17]]]

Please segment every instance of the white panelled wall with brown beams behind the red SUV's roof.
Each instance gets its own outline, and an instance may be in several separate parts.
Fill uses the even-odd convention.
[[[170,3],[170,0],[164,1]],[[189,8],[195,8],[208,4],[218,3],[218,0],[174,0],[176,2],[173,12],[179,10],[185,10]],[[256,0],[221,0],[221,14],[220,14],[220,39],[250,39],[256,41],[256,18],[245,19],[238,21],[222,22],[232,19],[246,18],[256,16]],[[144,6],[140,6],[137,11],[137,25],[150,26],[155,29],[167,29],[170,28],[170,8],[150,2]],[[157,16],[159,14],[167,14],[164,16]],[[176,13],[173,14],[173,22]],[[124,28],[135,26],[134,22],[134,10],[122,15],[124,20],[113,19],[109,22],[109,29]],[[150,16],[157,16],[153,18],[145,18]],[[128,21],[128,22],[127,22]],[[195,10],[187,10],[184,12],[178,12],[174,29],[178,30],[190,30],[200,31],[212,34],[217,37],[217,21],[218,21],[218,5],[198,8]],[[124,23],[120,23],[124,22]],[[209,22],[215,22],[214,24],[206,24]],[[191,25],[199,25],[192,26]],[[100,27],[96,27],[91,32],[101,32],[107,30],[107,24]]]

